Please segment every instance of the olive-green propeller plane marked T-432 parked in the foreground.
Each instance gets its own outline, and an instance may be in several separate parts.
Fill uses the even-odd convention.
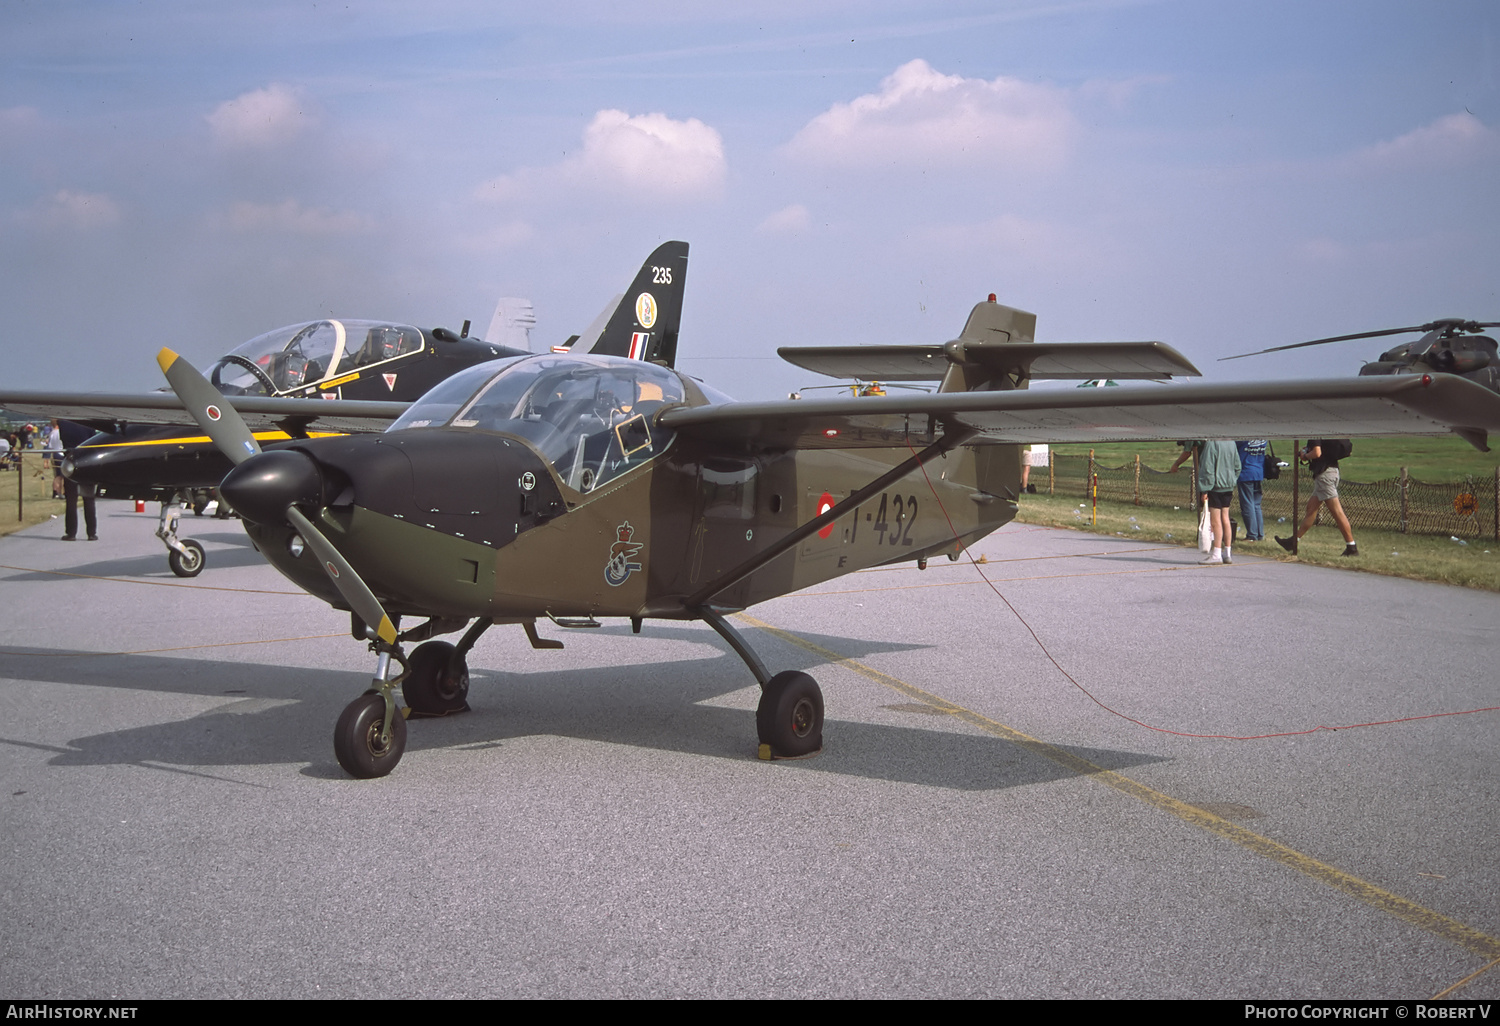
[[[652,330],[657,291],[681,285],[676,246],[628,304],[627,356],[474,366],[382,434],[261,446],[237,402],[158,354],[234,462],[219,490],[256,549],[348,610],[375,654],[333,732],[350,776],[388,774],[408,717],[470,708],[468,657],[490,627],[519,626],[548,650],[562,642],[540,636],[543,621],[567,632],[600,618],[638,634],[646,621],[706,622],[760,687],[756,754],[813,756],[820,687],[771,672],[729,616],[856,570],[957,560],[1014,519],[1022,444],[1458,432],[1484,447],[1500,429],[1500,396],[1450,375],[1032,392],[1044,378],[1198,370],[1161,342],[1035,342],[1036,316],[993,294],[942,345],[778,351],[832,376],[934,381],[933,393],[735,402],[676,370],[675,336]]]

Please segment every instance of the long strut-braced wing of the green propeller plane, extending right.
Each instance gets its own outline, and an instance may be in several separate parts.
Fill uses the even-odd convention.
[[[922,444],[966,429],[978,432],[975,442],[1020,444],[1456,434],[1485,450],[1488,432],[1500,430],[1500,394],[1434,374],[782,399],[676,406],[658,423],[744,452]]]

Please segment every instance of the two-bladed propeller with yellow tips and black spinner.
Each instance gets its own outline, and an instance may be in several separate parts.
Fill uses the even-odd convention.
[[[322,474],[306,454],[294,450],[261,452],[240,412],[204,378],[196,368],[171,350],[156,354],[166,382],[182,399],[213,444],[234,462],[234,470],[219,486],[230,506],[246,519],[267,524],[285,519],[314,550],[333,586],[350,609],[372,626],[387,645],[396,642],[396,626],[380,598],[356,573],[333,543],[297,508],[298,504],[322,506]]]

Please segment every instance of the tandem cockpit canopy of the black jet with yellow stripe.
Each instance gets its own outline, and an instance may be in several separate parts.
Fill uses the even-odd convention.
[[[308,321],[258,334],[219,358],[208,381],[226,396],[308,394],[386,360],[418,352],[422,332],[386,321]]]

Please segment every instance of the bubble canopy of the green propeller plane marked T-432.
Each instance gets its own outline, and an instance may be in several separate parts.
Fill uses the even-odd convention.
[[[494,360],[432,388],[390,426],[459,428],[524,438],[562,482],[591,492],[651,459],[672,434],[656,411],[682,402],[681,380],[654,363],[542,354]]]

